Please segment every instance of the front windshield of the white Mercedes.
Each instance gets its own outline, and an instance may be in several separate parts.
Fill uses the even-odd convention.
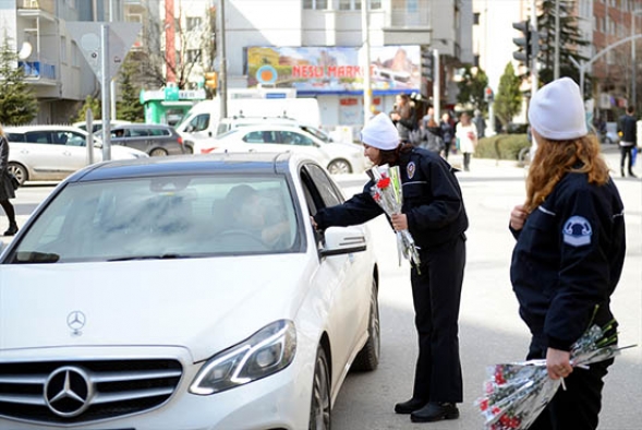
[[[161,176],[70,183],[8,263],[299,252],[282,176]]]

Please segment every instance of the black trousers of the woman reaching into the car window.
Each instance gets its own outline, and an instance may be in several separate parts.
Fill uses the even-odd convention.
[[[412,396],[431,402],[461,403],[459,304],[465,265],[465,236],[422,250],[421,274],[412,268],[414,323],[419,335]]]

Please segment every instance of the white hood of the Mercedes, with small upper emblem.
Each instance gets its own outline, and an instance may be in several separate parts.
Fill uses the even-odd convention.
[[[0,355],[135,345],[181,346],[194,361],[206,359],[294,319],[313,268],[305,254],[283,256],[4,265]],[[82,327],[71,321],[75,312]]]

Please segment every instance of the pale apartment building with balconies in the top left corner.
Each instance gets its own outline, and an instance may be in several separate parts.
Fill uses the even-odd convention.
[[[19,52],[26,81],[38,98],[37,123],[69,122],[78,105],[99,88],[70,21],[104,21],[107,5],[124,0],[0,0],[0,38]]]

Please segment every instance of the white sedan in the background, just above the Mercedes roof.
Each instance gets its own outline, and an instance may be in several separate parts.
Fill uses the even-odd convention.
[[[365,170],[363,147],[354,143],[324,142],[296,126],[247,126],[232,129],[214,140],[197,141],[196,154],[217,152],[300,152],[330,174],[355,174]]]

